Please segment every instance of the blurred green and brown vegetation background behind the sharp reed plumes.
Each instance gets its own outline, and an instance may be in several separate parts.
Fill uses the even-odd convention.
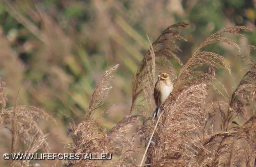
[[[67,136],[69,119],[78,124],[85,119],[85,108],[105,70],[117,63],[113,89],[100,106],[116,104],[101,120],[106,130],[129,113],[131,81],[149,47],[146,35],[154,42],[169,25],[187,22],[181,34],[188,40],[177,41],[183,64],[212,33],[235,25],[254,32],[238,38],[242,52],[220,43],[206,50],[223,55],[231,67],[216,71],[217,79],[232,94],[243,75],[246,62],[235,55],[249,55],[246,45],[256,45],[256,10],[252,0],[17,0],[0,2],[0,78],[7,84],[8,107],[19,105],[43,109],[57,120],[39,120],[53,153],[69,152],[62,142]],[[172,60],[177,74],[181,66]],[[138,113],[138,111],[134,111]],[[95,117],[94,116],[94,117]],[[0,153],[10,152],[11,133],[0,129]],[[0,164],[6,162],[0,159]],[[52,165],[54,161],[40,162]]]

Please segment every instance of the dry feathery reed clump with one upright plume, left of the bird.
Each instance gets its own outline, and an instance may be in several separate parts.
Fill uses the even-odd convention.
[[[77,126],[73,121],[70,129],[73,143],[68,143],[67,147],[72,153],[94,153],[99,155],[101,153],[111,153],[112,156],[119,155],[115,161],[104,161],[100,163],[96,161],[68,161],[65,166],[118,166],[119,164],[129,164],[128,161],[132,160],[131,153],[136,152],[134,146],[134,139],[128,139],[126,134],[129,132],[132,124],[139,121],[139,115],[128,115],[118,122],[113,128],[106,132],[99,121],[100,117],[91,119],[94,111],[99,106],[100,102],[106,97],[111,86],[109,83],[113,79],[111,73],[117,69],[119,65],[107,70],[103,77],[98,82],[96,89],[91,97],[86,111],[86,120],[79,123]],[[105,110],[107,111],[107,110]],[[104,111],[104,112],[105,112]],[[122,149],[125,147],[125,149]]]

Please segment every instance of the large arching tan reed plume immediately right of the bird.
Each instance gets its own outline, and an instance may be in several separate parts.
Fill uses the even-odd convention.
[[[228,103],[225,102],[216,102],[207,93],[211,87],[222,94],[215,85],[211,84],[211,81],[216,81],[215,70],[218,69],[218,65],[223,66],[229,73],[230,67],[221,55],[209,51],[200,52],[200,50],[209,44],[225,42],[240,51],[240,47],[232,40],[223,37],[223,34],[231,33],[241,37],[242,34],[239,32],[250,30],[246,27],[235,26],[214,33],[196,49],[181,68],[174,83],[173,92],[163,107],[164,113],[160,118],[152,141],[148,141],[153,129],[152,123],[146,124],[147,119],[145,119],[144,124],[137,128],[137,135],[142,136],[141,141],[150,142],[145,162],[147,166],[233,164],[234,161],[231,162],[226,159],[231,159],[228,158],[231,155],[230,152],[233,151],[231,148],[236,145],[236,139],[240,137],[235,135],[233,131],[214,134],[212,128],[210,130],[205,129],[207,123],[212,126],[213,116],[217,110],[224,119],[222,125],[224,129],[227,130],[232,121],[230,114],[233,111],[232,107],[229,107]],[[203,65],[208,65],[209,70],[207,72],[195,70]],[[149,72],[147,74],[149,75]],[[153,76],[153,74],[150,75]],[[219,82],[219,84],[221,83]],[[147,96],[145,94],[145,97]],[[208,105],[210,102],[214,112]],[[222,146],[223,142],[230,143]],[[210,153],[213,153],[212,156],[208,156]]]

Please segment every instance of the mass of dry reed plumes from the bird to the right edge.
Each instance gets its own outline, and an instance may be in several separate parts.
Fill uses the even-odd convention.
[[[208,89],[211,87],[221,94],[216,86],[211,84],[211,81],[216,80],[217,65],[223,66],[229,72],[230,67],[222,56],[214,52],[200,52],[204,46],[216,42],[225,42],[240,51],[240,47],[233,41],[224,38],[223,33],[242,36],[240,31],[250,30],[246,27],[236,26],[216,32],[196,49],[181,68],[174,83],[174,90],[165,102],[163,116],[160,118],[152,141],[150,141],[145,162],[148,164],[147,166],[252,166],[254,164],[255,152],[253,150],[255,147],[252,120],[255,118],[253,110],[255,66],[252,65],[242,79],[234,91],[230,103],[219,102],[208,95]],[[208,72],[195,70],[203,65],[209,66]],[[150,75],[153,75],[149,71],[150,69],[145,78],[150,79]],[[147,97],[148,95],[145,93],[145,98]],[[144,111],[142,113],[147,113],[147,108],[140,109]],[[245,112],[248,113],[249,109],[251,114],[245,117]],[[153,110],[151,109],[151,111]],[[217,113],[220,113],[221,118],[217,118]],[[144,115],[147,118],[147,114]],[[247,129],[245,126],[229,127],[232,120],[239,116],[243,116],[245,119],[245,124],[248,125]],[[222,120],[223,132],[213,131],[215,119]],[[137,135],[142,136],[141,141],[148,143],[153,123],[149,121],[146,123],[146,121],[147,119],[142,126],[137,128]]]

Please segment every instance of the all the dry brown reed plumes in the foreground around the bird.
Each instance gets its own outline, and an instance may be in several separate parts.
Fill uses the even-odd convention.
[[[38,8],[40,9],[39,6]],[[12,12],[16,15],[14,11]],[[42,17],[44,17],[43,14]],[[24,24],[28,24],[22,17],[21,20]],[[225,38],[224,33],[241,37],[240,32],[251,29],[235,26],[214,33],[195,50],[191,58],[183,65],[175,54],[180,50],[175,40],[185,40],[180,32],[181,28],[187,26],[186,23],[169,26],[155,42],[151,44],[149,41],[149,50],[139,64],[132,81],[130,114],[114,125],[111,130],[107,132],[102,128],[101,115],[94,119],[93,115],[112,88],[110,86],[114,78],[112,72],[118,68],[118,65],[107,70],[98,82],[89,105],[85,109],[84,121],[76,125],[71,118],[69,135],[73,141],[66,143],[70,152],[97,155],[112,153],[114,158],[111,161],[70,160],[63,162],[64,166],[137,166],[136,160],[139,161],[139,159],[132,154],[142,155],[139,147],[146,146],[148,142],[150,145],[145,161],[147,166],[254,165],[256,64],[253,59],[241,56],[250,61],[249,70],[233,92],[230,101],[227,102],[229,97],[226,97],[226,101],[220,101],[213,99],[209,95],[209,90],[224,96],[212,82],[217,81],[215,70],[224,67],[231,73],[230,66],[221,55],[211,51],[201,51],[203,47],[216,42],[227,43],[240,51],[240,47],[232,40]],[[36,29],[31,29],[31,31],[37,34],[42,41],[49,40],[40,36]],[[255,49],[255,46],[250,47]],[[177,60],[181,66],[183,65],[178,75],[172,68],[170,57]],[[201,69],[200,66],[207,66],[208,71],[198,70]],[[155,107],[152,96],[156,81],[155,75],[162,70],[175,78],[174,90],[163,106],[164,112],[162,112],[152,140],[149,141],[154,128],[151,115]],[[49,152],[47,135],[39,128],[37,120],[39,118],[51,120],[51,117],[38,108],[19,106],[18,100],[14,107],[6,108],[5,87],[5,83],[0,82],[0,125],[11,131],[11,152],[19,152],[17,139],[27,144],[26,150],[23,150],[26,153],[34,153],[39,149]],[[222,87],[224,88],[223,85]],[[146,104],[139,105],[140,103],[137,102],[139,96],[145,98]],[[139,110],[142,116],[133,115],[134,109]],[[128,136],[128,132],[132,130],[131,127],[138,124],[141,118],[143,124],[136,128],[131,137]],[[239,125],[235,121],[236,118],[242,119],[243,124]],[[221,125],[216,124],[216,119],[221,120]],[[215,132],[214,126],[221,126],[221,131]],[[140,138],[140,146],[136,145],[137,137]],[[10,161],[9,165],[29,166],[30,163],[28,160]]]

